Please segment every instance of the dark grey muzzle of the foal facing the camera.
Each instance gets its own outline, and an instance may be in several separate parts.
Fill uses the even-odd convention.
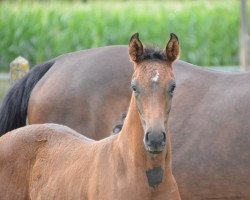
[[[148,131],[145,134],[144,144],[150,153],[161,153],[166,145],[166,133],[164,131]]]

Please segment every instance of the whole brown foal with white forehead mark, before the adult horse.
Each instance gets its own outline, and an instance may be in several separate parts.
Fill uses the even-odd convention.
[[[163,52],[132,36],[133,94],[119,135],[96,142],[47,124],[2,136],[1,199],[180,200],[167,127],[178,53],[174,34]]]

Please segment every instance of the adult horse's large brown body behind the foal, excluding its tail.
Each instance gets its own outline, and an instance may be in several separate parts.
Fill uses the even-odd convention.
[[[56,122],[101,139],[127,110],[132,65],[126,46],[57,58],[29,101],[29,123]],[[169,120],[182,199],[250,199],[250,74],[177,61]]]

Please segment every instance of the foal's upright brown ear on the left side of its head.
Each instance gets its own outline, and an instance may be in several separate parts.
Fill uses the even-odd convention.
[[[143,54],[143,45],[139,40],[139,33],[135,33],[134,35],[132,35],[129,42],[128,52],[130,60],[132,60],[133,62],[140,61],[140,57]]]

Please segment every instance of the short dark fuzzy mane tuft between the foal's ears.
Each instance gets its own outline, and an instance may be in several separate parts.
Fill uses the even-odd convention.
[[[141,61],[144,60],[167,60],[167,56],[158,47],[149,46],[144,49],[143,55],[141,56]]]

